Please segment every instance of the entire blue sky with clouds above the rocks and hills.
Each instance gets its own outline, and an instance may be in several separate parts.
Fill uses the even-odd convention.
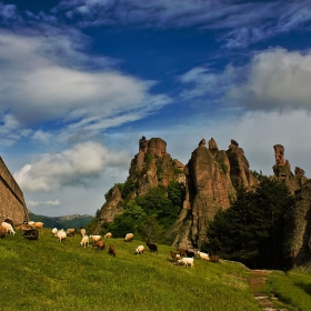
[[[234,139],[311,177],[310,0],[0,2],[0,156],[28,208],[94,214],[139,139]]]

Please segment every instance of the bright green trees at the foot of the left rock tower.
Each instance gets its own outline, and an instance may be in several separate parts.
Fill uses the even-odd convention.
[[[134,232],[144,240],[169,243],[165,232],[173,224],[182,208],[184,188],[177,181],[161,188],[152,188],[144,195],[130,199],[136,189],[132,181],[118,184],[122,194],[123,213],[117,215],[112,223],[103,225],[104,231],[122,238]],[[109,195],[109,193],[108,193]]]

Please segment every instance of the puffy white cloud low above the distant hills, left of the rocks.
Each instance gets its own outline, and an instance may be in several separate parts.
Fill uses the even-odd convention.
[[[126,152],[113,152],[96,142],[74,146],[56,154],[42,154],[13,175],[23,191],[51,191],[63,187],[89,187],[110,168],[129,164]]]

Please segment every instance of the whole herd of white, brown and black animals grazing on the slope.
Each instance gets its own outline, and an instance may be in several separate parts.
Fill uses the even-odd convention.
[[[16,227],[16,230],[19,230],[22,232],[22,237],[28,240],[37,240],[39,239],[39,230],[43,228],[43,222],[34,222],[29,221],[27,223],[21,223]],[[6,234],[16,234],[14,224],[13,221],[10,219],[4,219],[4,221],[0,224],[0,239],[2,240]],[[53,228],[51,231],[52,235],[54,235],[59,242],[66,241],[67,237],[73,237],[77,232],[76,229],[67,229],[67,230],[58,230],[57,228]],[[92,242],[92,248],[97,248],[98,250],[104,250],[106,248],[106,241],[102,239],[100,234],[90,234],[88,235],[86,232],[86,229],[80,229],[79,234],[81,235],[81,247],[89,247],[90,241]],[[108,232],[103,235],[104,239],[111,239],[112,233]],[[128,233],[124,237],[124,242],[131,242],[133,241],[133,233]],[[149,248],[150,252],[157,252],[158,253],[158,245],[156,243],[147,242],[147,247]],[[142,254],[144,252],[144,245],[138,245],[136,248],[136,254]],[[109,245],[108,253],[116,257],[116,247],[113,244]],[[194,251],[194,250],[188,250],[179,248],[175,251],[170,251],[171,254],[171,261],[174,264],[182,264],[185,267],[193,267],[194,258],[197,255],[207,261],[211,262],[219,262],[220,258],[217,254],[209,255],[209,253],[204,253],[201,251]]]

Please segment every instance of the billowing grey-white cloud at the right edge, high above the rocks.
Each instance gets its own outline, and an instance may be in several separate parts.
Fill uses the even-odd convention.
[[[278,48],[258,53],[248,66],[248,78],[225,99],[250,110],[311,110],[311,52],[290,52]]]

